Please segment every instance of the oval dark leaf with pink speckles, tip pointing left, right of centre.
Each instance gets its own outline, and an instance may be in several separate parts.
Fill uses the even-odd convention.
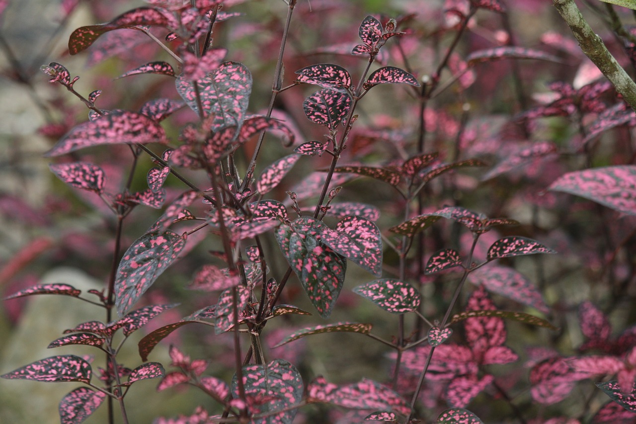
[[[353,291],[393,314],[413,312],[420,306],[420,293],[409,283],[397,279],[377,279]]]

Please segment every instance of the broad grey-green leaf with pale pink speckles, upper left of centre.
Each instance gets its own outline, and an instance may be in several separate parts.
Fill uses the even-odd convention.
[[[240,127],[252,92],[252,74],[244,64],[223,62],[213,73],[197,81],[177,78],[177,92],[198,113],[197,90],[205,117],[214,115],[212,130]]]

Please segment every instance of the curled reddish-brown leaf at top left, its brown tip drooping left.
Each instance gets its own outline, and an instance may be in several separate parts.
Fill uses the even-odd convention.
[[[136,8],[122,13],[107,24],[79,27],[69,38],[69,53],[75,55],[92,45],[100,35],[113,29],[134,27],[136,25],[156,25],[167,28],[177,28],[176,18],[165,10],[155,8]],[[132,28],[134,29],[134,28]]]

